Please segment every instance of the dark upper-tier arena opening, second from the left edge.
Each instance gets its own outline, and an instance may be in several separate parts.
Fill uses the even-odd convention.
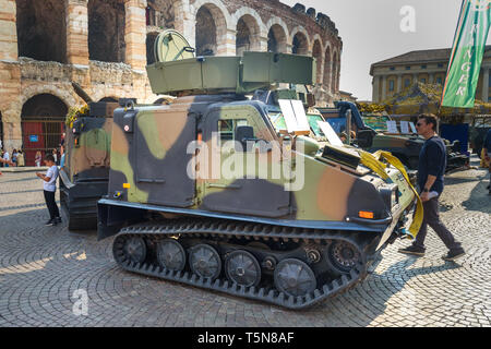
[[[124,1],[88,0],[88,57],[124,62]]]

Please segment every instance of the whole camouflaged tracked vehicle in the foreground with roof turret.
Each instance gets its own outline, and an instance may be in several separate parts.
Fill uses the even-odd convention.
[[[301,309],[364,279],[408,237],[416,195],[400,171],[383,166],[382,179],[356,152],[277,132],[266,105],[246,97],[312,84],[311,57],[194,57],[173,31],[155,51],[152,89],[177,99],[115,111],[98,202],[98,238],[116,234],[120,267]]]

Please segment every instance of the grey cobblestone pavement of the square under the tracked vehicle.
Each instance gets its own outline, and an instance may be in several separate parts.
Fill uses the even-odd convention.
[[[472,161],[474,165],[477,163]],[[34,173],[0,177],[0,326],[491,326],[491,197],[486,171],[447,177],[442,218],[463,242],[458,263],[430,230],[421,258],[383,252],[375,272],[345,294],[287,311],[125,273],[111,239],[45,227]],[[75,290],[88,314],[75,315]]]

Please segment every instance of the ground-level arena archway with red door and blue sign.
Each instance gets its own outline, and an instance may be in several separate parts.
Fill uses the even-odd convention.
[[[21,121],[26,166],[35,166],[37,152],[44,157],[59,149],[67,113],[67,105],[50,94],[36,95],[24,104]]]

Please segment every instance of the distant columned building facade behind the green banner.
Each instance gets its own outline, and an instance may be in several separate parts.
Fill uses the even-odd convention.
[[[372,101],[381,103],[416,82],[444,85],[451,49],[411,51],[373,63]],[[490,101],[491,46],[486,47],[476,98]]]

